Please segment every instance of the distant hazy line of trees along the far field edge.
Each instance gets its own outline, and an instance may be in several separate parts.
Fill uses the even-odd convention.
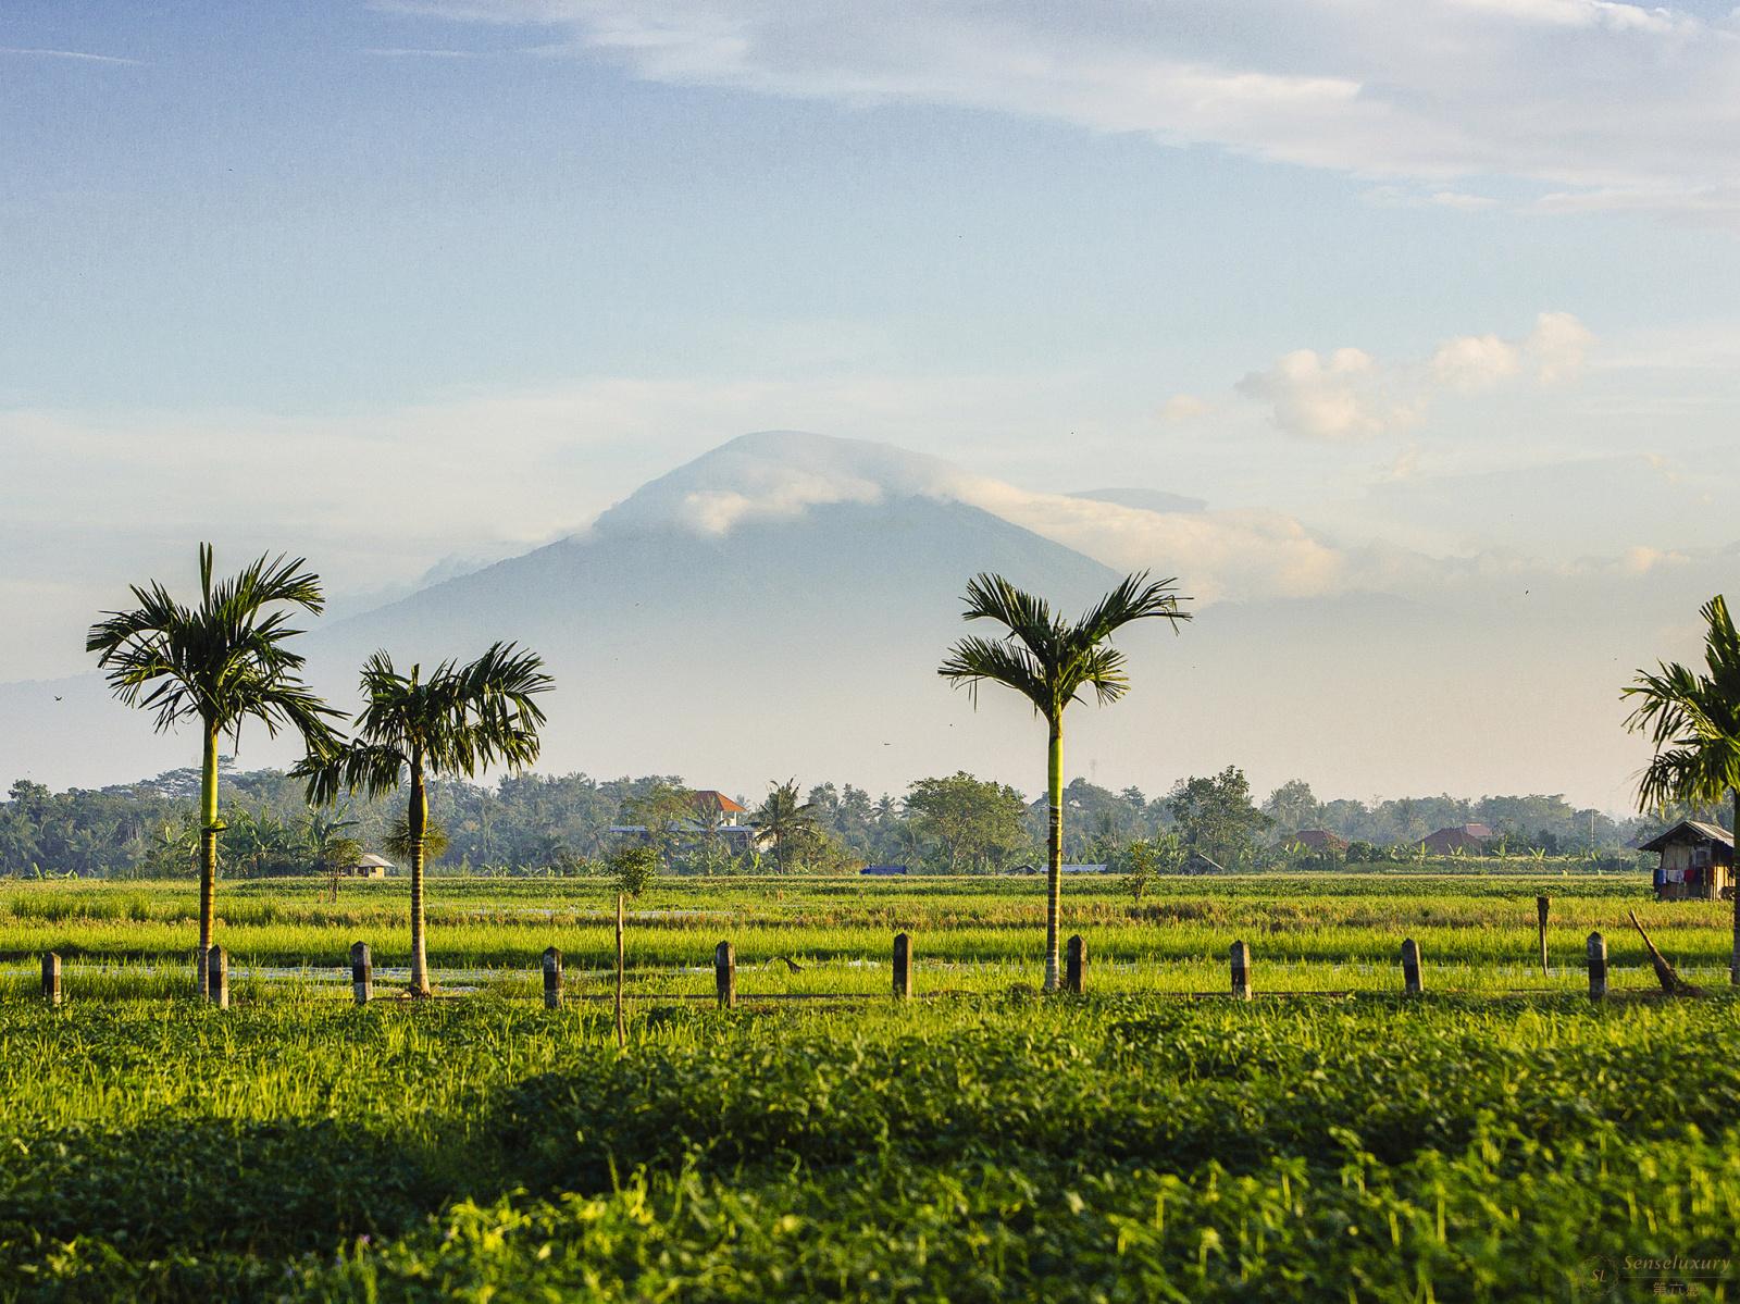
[[[226,877],[331,874],[360,850],[388,851],[404,822],[393,797],[355,797],[310,808],[304,783],[278,771],[223,770]],[[191,872],[198,844],[198,770],[106,789],[52,792],[17,780],[0,801],[0,874],[164,877]],[[741,799],[741,794],[740,794]],[[1267,799],[1251,796],[1237,768],[1180,780],[1166,796],[1112,790],[1077,778],[1063,789],[1065,853],[1072,862],[1129,870],[1178,869],[1201,851],[1227,869],[1321,862],[1293,834],[1326,829],[1347,862],[1404,860],[1436,829],[1484,823],[1486,848],[1503,857],[1620,857],[1677,818],[1726,825],[1728,801],[1672,806],[1660,817],[1613,820],[1561,796],[1479,799],[1395,797],[1319,801],[1303,780]],[[595,874],[623,839],[612,825],[658,830],[663,872],[847,872],[903,864],[929,872],[1006,872],[1044,864],[1046,801],[967,773],[920,778],[901,796],[872,797],[851,783],[778,783],[745,801],[759,846],[733,850],[698,818],[675,775],[599,780],[588,775],[506,775],[494,785],[430,783],[430,820],[445,839],[433,872]],[[741,844],[741,839],[740,839]]]

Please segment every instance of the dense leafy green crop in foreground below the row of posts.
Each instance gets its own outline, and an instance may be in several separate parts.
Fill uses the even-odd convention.
[[[1650,1297],[1740,1236],[1733,1013],[7,1003],[0,1292]]]

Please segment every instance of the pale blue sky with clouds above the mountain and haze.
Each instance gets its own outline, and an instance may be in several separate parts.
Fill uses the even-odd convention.
[[[1737,158],[1726,5],[12,0],[0,681],[195,538],[362,604],[762,428],[1202,498],[1223,601],[1528,575],[1690,656]]]

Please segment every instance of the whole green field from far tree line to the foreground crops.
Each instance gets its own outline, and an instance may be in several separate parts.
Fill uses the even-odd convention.
[[[623,1052],[606,1003],[531,999],[552,942],[607,991],[602,884],[432,888],[463,999],[343,999],[351,940],[404,958],[404,884],[259,883],[221,888],[219,937],[271,973],[218,1012],[184,884],[0,884],[0,1299],[1740,1294],[1703,1262],[1740,1241],[1730,907],[1643,879],[1192,879],[1140,907],[1070,883],[1086,998],[1032,991],[1034,879],[661,884]],[[1705,998],[1648,992],[1632,907]],[[898,928],[938,999],[886,996]],[[724,937],[733,1012],[684,999]],[[1225,991],[1235,937],[1260,992],[1348,994],[1174,999]]]

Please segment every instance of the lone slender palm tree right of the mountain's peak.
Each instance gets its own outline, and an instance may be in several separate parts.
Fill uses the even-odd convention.
[[[1053,615],[1051,606],[1025,594],[1000,575],[978,575],[967,583],[964,620],[995,620],[1007,627],[997,639],[960,639],[938,667],[955,688],[966,686],[978,705],[983,682],[1004,684],[1034,703],[1049,729],[1046,794],[1046,991],[1058,989],[1058,890],[1063,872],[1063,710],[1093,688],[1100,705],[1129,689],[1124,653],[1110,646],[1114,632],[1134,620],[1161,616],[1190,620],[1178,609],[1176,580],[1150,581],[1148,573],[1126,576],[1075,623]]]

